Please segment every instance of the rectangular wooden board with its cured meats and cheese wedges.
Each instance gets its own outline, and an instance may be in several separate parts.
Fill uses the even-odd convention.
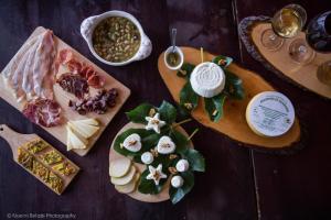
[[[0,97],[84,156],[130,90],[39,26],[2,70]]]

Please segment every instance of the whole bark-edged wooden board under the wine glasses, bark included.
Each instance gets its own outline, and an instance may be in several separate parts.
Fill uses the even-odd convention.
[[[331,87],[321,82],[317,77],[318,66],[330,61],[330,54],[316,52],[312,61],[307,64],[298,64],[289,55],[289,45],[299,38],[306,38],[305,32],[295,37],[286,38],[277,51],[269,51],[261,44],[260,36],[265,30],[271,29],[271,24],[264,18],[246,18],[241,24],[241,37],[249,54],[267,68],[282,78],[289,79],[300,88],[308,89],[319,96],[331,98]]]

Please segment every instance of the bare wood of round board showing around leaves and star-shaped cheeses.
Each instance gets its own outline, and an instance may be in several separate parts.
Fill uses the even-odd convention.
[[[114,142],[115,142],[116,138],[119,134],[121,134],[122,132],[125,132],[126,130],[128,130],[128,129],[143,129],[143,128],[145,128],[143,124],[138,124],[138,123],[132,123],[132,122],[129,122],[124,128],[121,128],[121,130],[116,134],[116,136],[115,136],[115,139],[111,143],[111,147],[110,147],[110,151],[109,151],[109,165],[110,165],[111,161],[125,157],[124,155],[117,153],[114,150]],[[182,134],[184,134],[185,136],[189,136],[188,133],[185,132],[185,130],[182,127],[178,127],[177,130],[179,132],[181,132]],[[190,142],[189,147],[193,148],[193,143],[192,142]],[[140,174],[142,174],[142,172],[147,168],[146,165],[138,164],[138,163],[134,163],[134,164],[135,164],[136,168],[138,168]],[[139,200],[139,201],[160,202],[160,201],[166,201],[170,198],[169,197],[169,188],[170,188],[170,178],[168,178],[167,183],[163,186],[162,191],[158,195],[141,194],[141,193],[138,191],[138,189],[136,189],[134,193],[130,193],[130,194],[127,194],[127,195],[129,197],[134,198],[134,199]]]

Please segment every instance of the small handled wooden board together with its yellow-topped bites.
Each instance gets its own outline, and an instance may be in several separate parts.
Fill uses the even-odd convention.
[[[76,164],[36,134],[20,134],[0,124],[0,136],[9,143],[14,162],[57,195],[79,172]]]

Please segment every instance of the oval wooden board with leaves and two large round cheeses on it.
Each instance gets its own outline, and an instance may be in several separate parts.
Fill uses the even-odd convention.
[[[195,120],[244,146],[277,150],[300,141],[291,102],[261,77],[229,57],[180,48],[184,55],[181,68],[167,68],[162,53],[159,73],[173,99]]]

